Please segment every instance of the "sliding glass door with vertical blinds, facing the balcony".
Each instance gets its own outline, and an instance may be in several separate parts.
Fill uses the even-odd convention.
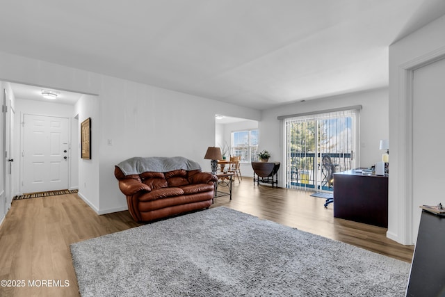
[[[357,128],[355,109],[286,118],[286,186],[332,191],[329,168],[356,166]],[[324,156],[332,166],[323,164]]]

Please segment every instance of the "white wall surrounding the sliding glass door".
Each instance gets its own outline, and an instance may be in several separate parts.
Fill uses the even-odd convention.
[[[389,133],[387,88],[308,100],[307,102],[298,102],[263,111],[261,122],[259,122],[259,150],[268,150],[272,154],[270,161],[280,161],[283,166],[282,122],[277,120],[278,116],[355,105],[362,105],[363,107],[359,115],[359,166],[372,166],[376,162],[382,161],[383,152],[379,150],[380,139],[388,138]],[[281,168],[280,172],[283,173]],[[283,178],[280,177],[279,186],[283,186]]]

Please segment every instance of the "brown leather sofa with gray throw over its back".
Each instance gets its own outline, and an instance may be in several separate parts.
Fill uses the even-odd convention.
[[[184,166],[181,162],[177,166],[178,169],[157,172],[172,169],[172,166],[164,166],[164,161],[170,161],[171,158],[158,158],[161,159],[161,166],[154,166],[156,171],[139,172],[150,168],[150,166],[140,166],[140,162],[150,163],[153,158],[156,157],[129,159],[132,164],[131,170],[126,170],[125,166],[122,166],[123,162],[115,166],[115,177],[119,180],[120,191],[127,196],[128,210],[136,222],[156,220],[210,207],[214,182],[217,181],[215,175],[201,172],[197,163],[194,163],[195,166],[187,164]],[[179,158],[180,161],[184,159],[174,158]],[[136,165],[134,159],[137,159]],[[159,161],[158,159],[154,160],[155,163]]]

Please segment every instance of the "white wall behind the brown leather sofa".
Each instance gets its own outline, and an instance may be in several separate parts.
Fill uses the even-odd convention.
[[[0,80],[99,95],[76,106],[79,122],[92,118],[92,160],[79,163],[79,192],[99,214],[127,209],[114,177],[120,161],[131,156],[186,156],[209,171],[204,154],[215,144],[215,114],[261,117],[255,109],[3,52]]]

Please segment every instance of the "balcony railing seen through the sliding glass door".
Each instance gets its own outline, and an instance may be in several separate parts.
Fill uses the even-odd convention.
[[[288,188],[304,187],[332,191],[332,187],[327,183],[327,170],[321,162],[325,155],[331,157],[335,172],[351,169],[352,153],[318,153],[316,155],[310,152],[296,152],[291,154],[287,160],[286,186]],[[317,186],[315,177],[318,181]]]

